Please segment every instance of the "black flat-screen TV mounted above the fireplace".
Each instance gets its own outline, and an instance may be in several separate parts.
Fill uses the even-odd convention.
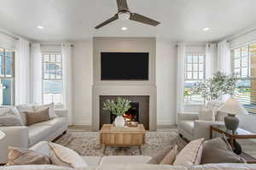
[[[148,80],[148,53],[102,53],[102,80]]]

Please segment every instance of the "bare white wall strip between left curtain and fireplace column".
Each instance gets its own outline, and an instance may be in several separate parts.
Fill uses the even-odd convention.
[[[92,39],[73,43],[73,124],[91,125]]]

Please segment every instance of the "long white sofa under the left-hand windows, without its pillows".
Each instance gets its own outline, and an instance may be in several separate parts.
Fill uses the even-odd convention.
[[[0,127],[6,134],[0,141],[0,164],[7,162],[8,147],[29,148],[40,141],[51,141],[67,131],[67,111],[55,111],[57,117],[24,127]]]

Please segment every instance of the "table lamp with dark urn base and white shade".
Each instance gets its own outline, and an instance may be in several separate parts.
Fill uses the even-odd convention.
[[[232,130],[233,133],[239,127],[239,119],[236,115],[247,115],[245,108],[234,98],[228,99],[224,102],[218,111],[228,113],[228,116],[224,117],[224,123],[227,129]]]

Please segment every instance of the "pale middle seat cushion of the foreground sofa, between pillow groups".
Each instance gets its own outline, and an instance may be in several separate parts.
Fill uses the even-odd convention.
[[[104,156],[100,165],[147,163],[151,156]]]

